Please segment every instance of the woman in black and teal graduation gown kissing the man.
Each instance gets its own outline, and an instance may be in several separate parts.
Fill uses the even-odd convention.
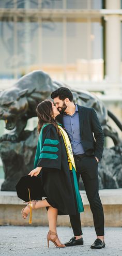
[[[28,175],[40,175],[44,200],[32,201],[24,209],[26,219],[32,209],[47,207],[49,233],[48,247],[51,240],[56,247],[61,244],[56,233],[57,215],[75,215],[83,212],[79,193],[75,164],[71,144],[67,133],[56,123],[59,111],[50,100],[44,100],[37,106],[39,140],[37,144],[34,170]]]

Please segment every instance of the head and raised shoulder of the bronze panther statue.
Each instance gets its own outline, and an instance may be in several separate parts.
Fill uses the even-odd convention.
[[[39,102],[49,98],[51,90],[57,85],[50,76],[41,71],[33,71],[22,78],[11,88],[0,93],[0,119],[5,120],[6,129],[16,127],[18,119],[23,121],[36,116]]]

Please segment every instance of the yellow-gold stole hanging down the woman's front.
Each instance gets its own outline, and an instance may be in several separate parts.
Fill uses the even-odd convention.
[[[58,125],[58,128],[59,128],[60,132],[62,133],[63,140],[64,140],[64,143],[65,143],[67,157],[68,157],[68,163],[69,163],[69,170],[72,171],[72,165],[73,165],[73,167],[76,171],[74,158],[73,158],[73,153],[72,153],[72,148],[71,148],[71,143],[69,141],[68,135],[67,135],[66,131],[64,131],[64,129],[62,127],[60,127],[59,125]]]

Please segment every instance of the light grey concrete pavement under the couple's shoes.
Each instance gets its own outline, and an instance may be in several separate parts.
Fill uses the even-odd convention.
[[[0,255],[1,256],[122,256],[122,228],[105,228],[106,247],[99,250],[91,250],[90,245],[96,239],[94,228],[83,227],[83,246],[74,246],[58,249],[50,242],[47,247],[48,227],[0,227]],[[62,243],[67,242],[72,236],[72,229],[58,227],[58,236]]]

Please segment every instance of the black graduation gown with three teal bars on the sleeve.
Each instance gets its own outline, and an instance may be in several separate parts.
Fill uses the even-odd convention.
[[[72,171],[69,170],[66,148],[62,135],[58,136],[53,124],[41,129],[34,168],[40,171],[43,194],[48,203],[58,209],[58,215],[78,213]]]

